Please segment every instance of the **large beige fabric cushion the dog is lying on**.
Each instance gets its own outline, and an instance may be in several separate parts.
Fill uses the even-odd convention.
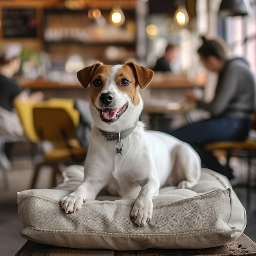
[[[28,240],[74,248],[141,250],[195,249],[235,240],[246,226],[246,212],[229,181],[203,169],[189,189],[165,187],[153,198],[153,219],[139,228],[130,220],[132,200],[99,196],[66,214],[60,200],[83,180],[83,167],[70,166],[55,189],[18,192],[18,213]]]

